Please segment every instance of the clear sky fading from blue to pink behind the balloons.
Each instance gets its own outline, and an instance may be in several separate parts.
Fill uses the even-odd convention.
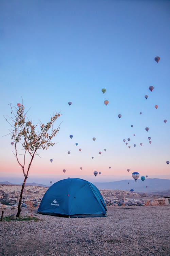
[[[3,117],[22,99],[34,123],[61,114],[56,144],[38,152],[28,182],[170,179],[169,27],[164,0],[1,1],[0,181],[23,180]]]

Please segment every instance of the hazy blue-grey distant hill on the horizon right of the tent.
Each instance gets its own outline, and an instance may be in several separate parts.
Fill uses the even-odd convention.
[[[136,182],[135,180],[123,180],[101,183],[94,182],[93,184],[99,189],[130,190],[133,188],[136,192],[159,192],[170,189],[170,180],[167,179],[146,179],[144,182],[140,179]],[[148,187],[146,188],[146,186]]]

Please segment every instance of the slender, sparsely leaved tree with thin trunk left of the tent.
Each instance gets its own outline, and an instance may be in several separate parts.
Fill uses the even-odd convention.
[[[8,119],[10,119],[13,122],[13,124],[8,122],[7,118],[5,119],[13,128],[13,130],[10,130],[10,133],[9,133],[11,134],[12,140],[15,145],[15,153],[14,152],[13,153],[17,159],[18,164],[22,168],[22,172],[24,175],[24,181],[22,184],[19,203],[18,203],[18,212],[16,214],[16,217],[19,217],[21,212],[22,194],[28,178],[28,173],[29,173],[32,161],[35,155],[38,155],[37,151],[39,149],[47,150],[50,146],[55,145],[55,143],[52,143],[51,140],[58,133],[60,125],[56,129],[54,129],[53,124],[55,123],[57,118],[60,117],[60,114],[54,113],[53,116],[51,117],[50,122],[48,122],[46,125],[41,123],[40,121],[38,124],[34,125],[32,123],[32,120],[29,120],[29,119],[26,120],[26,115],[28,111],[26,113],[24,112],[23,104],[18,103],[17,106],[18,108],[16,108],[16,113],[14,112],[11,106],[11,114],[13,117],[7,116]],[[38,131],[37,129],[38,126],[40,126],[40,131]],[[22,148],[24,150],[22,163],[21,163],[21,160],[19,159],[19,154],[17,152],[18,143],[21,143]],[[30,156],[27,168],[25,167],[26,153],[29,154]]]

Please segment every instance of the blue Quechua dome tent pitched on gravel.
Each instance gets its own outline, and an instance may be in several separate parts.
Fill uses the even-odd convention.
[[[54,183],[38,208],[38,213],[70,218],[104,217],[106,205],[100,191],[82,179],[65,179]]]

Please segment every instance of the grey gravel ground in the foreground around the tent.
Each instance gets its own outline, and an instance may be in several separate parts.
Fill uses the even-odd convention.
[[[0,255],[170,255],[170,206],[107,210],[107,217],[102,218],[34,213],[40,221],[0,222]],[[28,216],[28,210],[23,209],[21,215]]]

